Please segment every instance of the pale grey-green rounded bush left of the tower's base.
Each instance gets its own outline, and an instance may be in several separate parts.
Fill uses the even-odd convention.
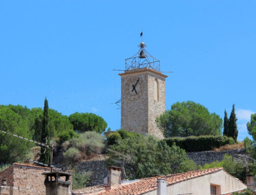
[[[105,146],[103,142],[103,136],[100,136],[100,134],[96,132],[89,131],[78,134],[77,138],[70,139],[66,147],[75,147],[79,152],[86,155],[90,155],[91,153],[100,154]]]

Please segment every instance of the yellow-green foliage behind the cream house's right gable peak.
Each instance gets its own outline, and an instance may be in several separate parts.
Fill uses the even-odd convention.
[[[221,162],[216,161],[211,164],[205,164],[203,167],[201,167],[201,169],[214,167],[223,167],[224,170],[230,175],[240,179],[243,182],[246,180],[246,168],[240,163],[234,163],[232,156],[225,154]]]

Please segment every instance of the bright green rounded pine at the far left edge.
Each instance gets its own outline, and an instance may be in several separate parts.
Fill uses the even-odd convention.
[[[0,106],[1,130],[32,139],[34,131],[30,127],[27,117],[22,117],[7,106]],[[32,146],[29,141],[0,133],[0,162],[6,164],[24,161]]]

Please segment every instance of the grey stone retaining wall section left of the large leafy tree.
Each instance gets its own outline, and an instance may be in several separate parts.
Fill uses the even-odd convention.
[[[107,176],[107,167],[105,160],[100,161],[85,161],[76,163],[77,170],[92,171],[92,176],[88,186],[101,185],[104,182],[104,177]]]

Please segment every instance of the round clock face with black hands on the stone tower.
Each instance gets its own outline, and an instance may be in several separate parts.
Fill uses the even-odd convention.
[[[132,77],[126,83],[126,96],[130,100],[138,99],[144,92],[144,81],[140,77]]]

